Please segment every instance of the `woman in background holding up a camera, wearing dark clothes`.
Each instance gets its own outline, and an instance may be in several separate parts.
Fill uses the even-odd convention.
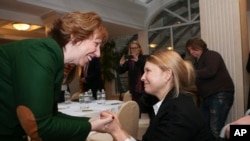
[[[141,76],[144,73],[145,57],[138,41],[131,41],[128,47],[128,55],[123,55],[120,59],[118,73],[123,74],[128,71],[129,91],[132,100],[138,103],[144,93]]]

